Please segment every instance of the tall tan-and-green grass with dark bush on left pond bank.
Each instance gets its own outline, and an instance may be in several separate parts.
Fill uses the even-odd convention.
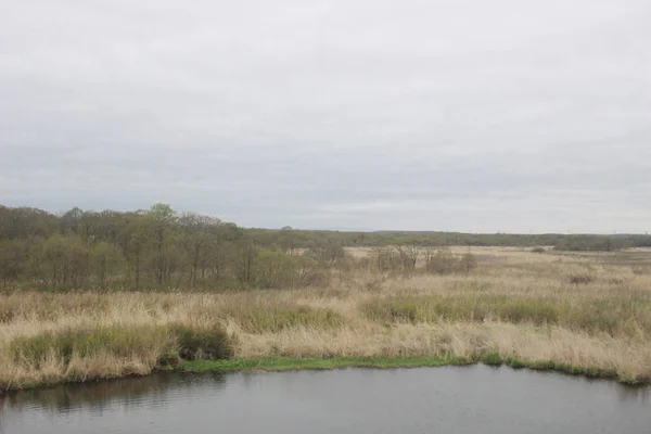
[[[146,374],[156,367],[189,360],[226,359],[235,337],[218,323],[190,327],[111,326],[43,331],[16,336],[0,354],[0,391],[29,384],[54,384]],[[11,368],[11,371],[9,369]]]

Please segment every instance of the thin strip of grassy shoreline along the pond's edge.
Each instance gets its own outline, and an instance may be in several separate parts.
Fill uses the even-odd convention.
[[[593,380],[616,381],[628,387],[651,386],[651,378],[636,379],[620,375],[616,371],[604,370],[597,367],[579,367],[553,360],[520,360],[502,358],[496,353],[484,355],[480,358],[468,357],[268,357],[252,359],[219,359],[219,360],[182,360],[175,366],[156,367],[145,375],[119,375],[85,381],[62,381],[40,384],[23,384],[22,387],[0,390],[0,397],[22,391],[37,391],[61,385],[90,384],[103,381],[149,376],[156,373],[254,373],[254,372],[282,372],[282,371],[309,371],[309,370],[336,370],[336,369],[411,369],[411,368],[442,368],[464,367],[482,363],[489,367],[507,366],[514,370],[528,369],[532,371],[554,372],[561,375],[583,376]]]

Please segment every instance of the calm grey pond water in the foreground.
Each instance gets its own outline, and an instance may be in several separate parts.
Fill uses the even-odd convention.
[[[157,374],[0,398],[2,434],[651,434],[651,390],[471,367]]]

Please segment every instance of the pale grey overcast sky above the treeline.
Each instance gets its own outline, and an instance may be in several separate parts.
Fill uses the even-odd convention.
[[[649,0],[0,5],[0,203],[651,231]]]

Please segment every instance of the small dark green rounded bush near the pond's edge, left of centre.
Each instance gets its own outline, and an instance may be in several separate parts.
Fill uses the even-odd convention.
[[[235,337],[219,323],[200,328],[175,324],[171,331],[178,340],[179,356],[184,360],[217,360],[233,357]]]

